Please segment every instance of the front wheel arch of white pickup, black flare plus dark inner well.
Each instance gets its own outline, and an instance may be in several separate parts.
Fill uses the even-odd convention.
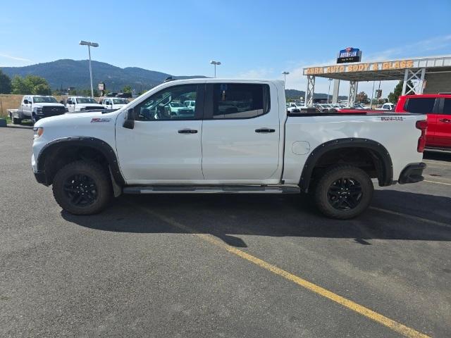
[[[108,143],[95,137],[64,137],[46,144],[37,157],[37,170],[44,173],[44,184],[51,184],[56,171],[63,164],[75,161],[87,153],[101,156],[101,161],[108,165],[116,183],[120,186],[125,185],[115,151]]]

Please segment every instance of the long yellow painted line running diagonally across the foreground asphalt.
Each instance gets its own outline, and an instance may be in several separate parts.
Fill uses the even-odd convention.
[[[304,287],[305,289],[308,289],[311,292],[319,294],[320,296],[330,299],[330,301],[339,303],[340,305],[345,306],[346,308],[349,308],[350,310],[357,312],[360,315],[364,315],[366,318],[369,318],[371,320],[374,320],[377,323],[385,325],[386,327],[390,328],[391,330],[393,330],[395,332],[398,332],[398,333],[404,335],[405,337],[410,337],[410,338],[428,338],[429,337],[426,334],[423,334],[421,332],[418,332],[418,331],[412,329],[411,327],[407,327],[405,325],[402,325],[401,323],[398,323],[395,320],[385,317],[385,315],[381,315],[380,313],[372,311],[369,308],[366,308],[365,306],[359,305],[358,303],[354,303],[354,301],[350,301],[349,299],[346,299],[345,297],[339,296],[338,294],[334,294],[333,292],[330,292],[329,290],[324,289],[323,287],[320,287],[319,285],[316,285],[312,282],[304,280],[301,277],[293,275],[292,273],[288,273],[287,271],[278,268],[276,265],[267,263],[266,261],[263,261],[260,258],[252,256],[249,253],[246,253],[245,251],[236,249],[235,247],[230,246],[230,245],[222,242],[221,240],[216,239],[215,237],[212,237],[209,234],[199,234],[196,232],[196,230],[192,229],[191,227],[187,227],[186,225],[178,223],[177,221],[173,220],[172,218],[168,218],[165,215],[161,215],[154,211],[149,211],[148,209],[146,209],[144,207],[142,207],[141,209],[142,209],[142,211],[149,213],[151,215],[154,215],[156,218],[159,218],[170,225],[178,227],[179,229],[184,230],[185,232],[190,232],[190,233],[196,235],[200,239],[203,239],[205,242],[209,242],[211,244],[214,244],[215,246],[218,246],[221,249],[225,249],[226,251],[233,253],[236,256],[239,256],[239,257],[245,259],[246,261],[249,261],[250,263],[253,263],[255,265],[258,265],[261,268],[271,271],[271,273],[275,273],[276,275],[284,277],[285,279],[290,280],[291,282],[294,282],[295,284],[297,284],[301,287]]]

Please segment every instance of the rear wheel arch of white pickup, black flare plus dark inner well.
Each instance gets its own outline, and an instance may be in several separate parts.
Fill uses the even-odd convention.
[[[314,170],[318,168],[317,165],[321,163],[323,158],[330,155],[342,157],[345,156],[344,154],[350,154],[352,151],[356,151],[357,154],[366,154],[366,156],[371,158],[374,165],[373,169],[376,171],[376,177],[381,187],[393,183],[393,162],[385,146],[372,139],[345,138],[324,142],[311,151],[302,168],[299,180],[301,190],[303,192],[309,191]]]

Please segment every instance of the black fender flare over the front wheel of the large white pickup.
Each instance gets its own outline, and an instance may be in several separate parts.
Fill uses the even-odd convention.
[[[95,137],[63,137],[47,143],[42,147],[41,151],[39,151],[39,155],[37,156],[38,173],[45,173],[45,162],[49,154],[55,154],[55,151],[64,149],[67,146],[83,146],[99,151],[106,158],[111,170],[111,175],[113,175],[116,183],[120,186],[125,185],[125,179],[121,173],[121,169],[119,168],[116,152],[108,143]],[[50,184],[50,182],[47,182],[47,184]]]

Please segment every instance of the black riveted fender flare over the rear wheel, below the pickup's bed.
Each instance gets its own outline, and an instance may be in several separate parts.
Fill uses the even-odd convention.
[[[372,139],[362,138],[345,138],[345,139],[333,139],[328,142],[324,142],[317,146],[314,151],[311,151],[307,161],[302,168],[301,178],[299,180],[299,187],[303,192],[308,192],[311,175],[315,168],[319,158],[326,154],[328,151],[345,148],[362,148],[371,151],[371,154],[377,156],[381,163],[378,170],[378,181],[381,187],[386,187],[393,184],[393,162],[385,146]]]

